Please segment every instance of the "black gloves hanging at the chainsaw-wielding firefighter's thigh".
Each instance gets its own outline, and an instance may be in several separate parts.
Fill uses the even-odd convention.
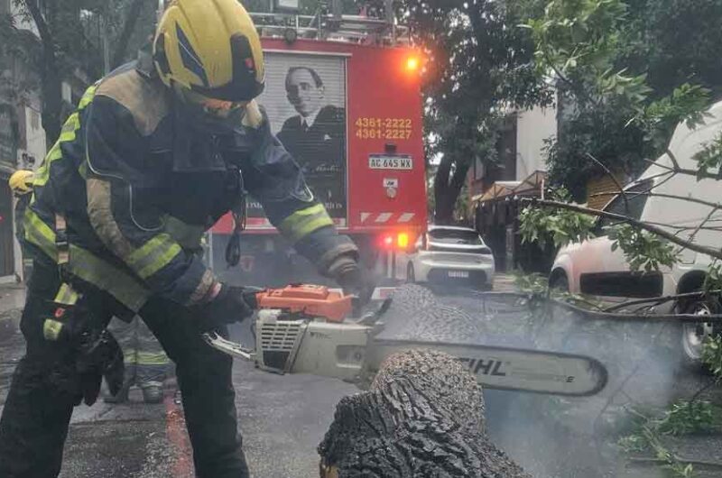
[[[123,386],[123,351],[107,331],[83,336],[78,349],[76,367],[83,401],[90,406],[97,400],[100,382],[106,378],[108,390],[116,395]]]

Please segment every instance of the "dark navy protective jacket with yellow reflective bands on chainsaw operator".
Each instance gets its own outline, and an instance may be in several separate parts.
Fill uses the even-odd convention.
[[[200,236],[245,185],[321,273],[339,255],[356,255],[259,117],[199,115],[143,57],[116,69],[88,88],[37,171],[28,243],[58,261],[56,225],[64,222],[72,276],[129,312],[153,294],[194,305],[217,281],[198,253]]]

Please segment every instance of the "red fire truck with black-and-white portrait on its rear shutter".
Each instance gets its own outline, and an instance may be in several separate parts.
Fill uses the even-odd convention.
[[[259,99],[339,232],[391,285],[395,254],[408,250],[427,225],[421,54],[408,28],[384,14],[383,5],[357,15],[340,14],[338,5],[315,15],[252,14],[266,64]],[[234,247],[240,257],[229,267]],[[245,217],[218,221],[208,248],[208,261],[224,280],[319,282],[254,198]]]

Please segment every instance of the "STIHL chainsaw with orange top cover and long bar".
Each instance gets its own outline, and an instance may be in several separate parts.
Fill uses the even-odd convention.
[[[446,344],[379,337],[393,299],[354,319],[352,296],[324,286],[292,285],[256,295],[255,348],[215,332],[204,340],[219,351],[267,372],[310,373],[367,383],[384,359],[409,349],[432,349],[458,357],[486,388],[566,396],[589,396],[606,385],[596,359],[493,345]]]

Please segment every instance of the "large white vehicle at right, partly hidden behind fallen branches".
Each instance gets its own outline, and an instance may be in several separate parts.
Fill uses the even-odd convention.
[[[680,124],[672,135],[669,151],[680,168],[697,170],[694,155],[722,131],[722,102],[712,106],[704,124],[690,129]],[[682,238],[690,237],[698,226],[708,218],[709,229],[701,229],[694,235],[694,242],[718,248],[722,244],[722,211],[690,202],[684,198],[719,203],[722,199],[722,182],[716,179],[697,180],[694,176],[669,174],[673,161],[665,153],[642,176],[625,188],[627,202],[617,195],[604,207],[605,211],[632,216],[644,222],[664,225]],[[640,195],[652,190],[654,195]],[[677,196],[681,198],[671,198]],[[617,249],[612,251],[612,240],[605,231],[613,221],[597,220],[597,237],[580,244],[561,248],[551,267],[552,287],[606,298],[656,298],[700,290],[712,262],[703,253],[690,250],[680,252],[680,261],[671,268],[651,273],[630,271],[625,255]],[[713,229],[717,227],[717,229]],[[720,313],[718,298],[693,297],[669,301],[656,306],[657,313],[686,313],[700,316]],[[702,343],[710,334],[717,334],[717,326],[688,324],[680,327],[681,350],[688,363],[699,363]]]

